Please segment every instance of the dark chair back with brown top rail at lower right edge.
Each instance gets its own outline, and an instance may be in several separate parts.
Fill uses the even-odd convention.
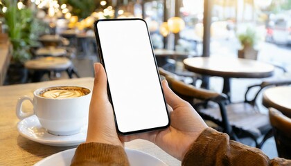
[[[273,108],[269,109],[269,116],[279,157],[291,159],[291,119]]]

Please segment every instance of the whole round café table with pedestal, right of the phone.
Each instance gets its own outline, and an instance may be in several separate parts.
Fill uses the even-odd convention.
[[[218,76],[224,80],[222,93],[230,98],[230,78],[263,78],[274,73],[274,66],[251,59],[231,57],[191,57],[184,59],[185,68],[202,75]]]

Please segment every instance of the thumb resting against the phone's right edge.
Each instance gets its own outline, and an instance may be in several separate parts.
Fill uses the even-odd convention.
[[[166,102],[170,105],[170,107],[172,107],[174,110],[175,108],[177,108],[178,106],[181,106],[181,104],[185,103],[184,100],[182,100],[182,98],[179,98],[178,95],[176,95],[168,86],[168,82],[167,80],[163,80],[162,82],[162,86],[163,86],[163,90],[164,90],[164,94],[165,94],[165,98],[166,98]]]

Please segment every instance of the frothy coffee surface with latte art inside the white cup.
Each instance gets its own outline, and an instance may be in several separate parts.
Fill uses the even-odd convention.
[[[78,98],[89,94],[88,89],[78,86],[55,86],[39,91],[39,96],[43,98],[64,99],[64,98]]]

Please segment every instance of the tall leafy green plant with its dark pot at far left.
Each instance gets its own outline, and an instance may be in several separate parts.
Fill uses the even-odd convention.
[[[37,46],[37,34],[42,28],[37,27],[30,8],[17,8],[15,0],[5,0],[3,5],[7,8],[2,15],[8,26],[8,37],[12,44],[12,58],[5,84],[24,83],[28,77],[24,63],[31,58],[30,48]]]

